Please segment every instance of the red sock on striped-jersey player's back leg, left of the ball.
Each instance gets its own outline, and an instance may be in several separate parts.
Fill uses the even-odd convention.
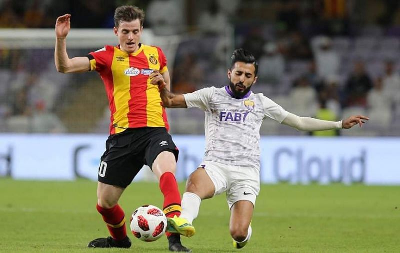
[[[96,205],[97,211],[103,217],[109,234],[114,240],[122,240],[126,237],[126,227],[125,227],[125,214],[122,208],[116,204],[110,209],[104,209],[98,204]]]

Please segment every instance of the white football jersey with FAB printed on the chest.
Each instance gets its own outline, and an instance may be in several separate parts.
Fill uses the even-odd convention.
[[[262,93],[249,91],[240,99],[234,98],[228,86],[203,88],[183,96],[188,108],[205,111],[203,161],[259,169],[262,120],[269,117],[281,123],[288,114]]]

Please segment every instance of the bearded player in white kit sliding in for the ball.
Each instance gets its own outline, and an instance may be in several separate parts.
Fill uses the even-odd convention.
[[[348,129],[356,124],[362,126],[368,120],[363,115],[336,122],[294,115],[263,94],[251,92],[257,68],[251,53],[236,49],[227,71],[229,84],[225,87],[177,95],[160,85],[163,106],[197,107],[205,111],[203,161],[187,179],[180,217],[168,218],[168,225],[181,235],[191,236],[185,231],[185,222],[192,223],[197,217],[201,200],[226,192],[233,246],[239,249],[246,245],[259,193],[259,128],[263,119],[268,117],[303,131]]]

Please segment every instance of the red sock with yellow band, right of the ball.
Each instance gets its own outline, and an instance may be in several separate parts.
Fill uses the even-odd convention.
[[[164,195],[163,212],[166,217],[180,215],[180,193],[175,176],[171,172],[165,172],[159,179],[159,189]]]

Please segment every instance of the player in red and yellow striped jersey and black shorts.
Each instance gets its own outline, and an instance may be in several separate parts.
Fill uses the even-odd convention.
[[[96,209],[110,237],[95,239],[91,248],[129,248],[125,216],[118,200],[142,166],[148,165],[159,180],[166,217],[180,215],[180,194],[174,176],[178,149],[168,134],[168,122],[161,106],[157,83],[169,87],[166,57],[161,48],[140,43],[143,10],[123,5],[114,12],[114,34],[119,44],[106,45],[87,56],[69,58],[65,38],[70,14],[57,18],[54,61],[59,72],[97,71],[109,100],[111,123],[106,150],[100,159]],[[182,220],[182,219],[180,219]],[[186,222],[186,231],[194,228]],[[176,232],[173,228],[167,231]],[[190,252],[178,234],[167,232],[169,250]]]

